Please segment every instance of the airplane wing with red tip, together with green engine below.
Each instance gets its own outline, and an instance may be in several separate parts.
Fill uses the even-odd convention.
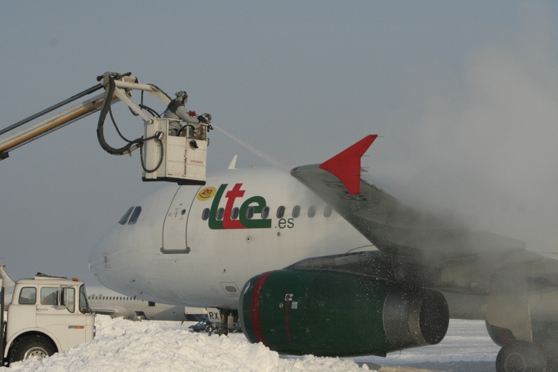
[[[285,354],[385,356],[438,343],[449,318],[482,319],[502,346],[498,371],[557,370],[558,261],[361,179],[376,137],[291,174],[377,251],[306,258],[251,278],[239,301],[246,337]],[[351,322],[357,314],[365,322]]]

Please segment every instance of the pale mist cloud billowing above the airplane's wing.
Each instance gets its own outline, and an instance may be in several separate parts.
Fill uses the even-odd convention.
[[[544,9],[518,12],[510,43],[488,40],[456,80],[430,75],[415,87],[414,154],[383,171],[414,204],[544,251],[558,246],[558,59]]]

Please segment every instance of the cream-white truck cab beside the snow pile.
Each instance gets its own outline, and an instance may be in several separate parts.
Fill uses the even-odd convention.
[[[43,359],[95,337],[83,281],[47,276],[15,282],[13,297],[4,304],[4,271],[0,264],[0,356],[1,366],[24,359]]]

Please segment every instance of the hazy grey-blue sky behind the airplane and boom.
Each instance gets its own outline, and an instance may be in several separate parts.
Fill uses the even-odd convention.
[[[550,1],[2,1],[0,128],[131,71],[188,91],[188,109],[286,171],[382,135],[363,165],[386,191],[556,250],[557,21]],[[116,119],[142,135],[127,110]],[[156,188],[139,153],[100,148],[97,120],[0,162],[0,262],[14,278],[96,285],[90,249]],[[210,138],[209,172],[234,154],[238,168],[269,165]]]

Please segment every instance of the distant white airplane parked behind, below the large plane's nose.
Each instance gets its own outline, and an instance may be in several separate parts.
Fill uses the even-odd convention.
[[[87,301],[93,313],[110,315],[111,318],[197,322],[207,315],[204,308],[158,304],[100,286],[87,287]]]

